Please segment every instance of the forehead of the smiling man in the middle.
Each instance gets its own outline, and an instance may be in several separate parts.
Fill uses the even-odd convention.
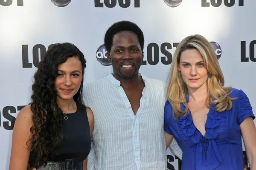
[[[131,31],[121,31],[113,36],[113,45],[139,45],[138,36]]]

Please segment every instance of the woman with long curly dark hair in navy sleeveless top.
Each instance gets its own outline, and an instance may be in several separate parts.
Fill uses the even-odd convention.
[[[15,121],[9,170],[26,170],[28,163],[39,170],[83,169],[94,124],[82,100],[85,67],[73,44],[55,44],[46,52],[34,75],[32,102]]]

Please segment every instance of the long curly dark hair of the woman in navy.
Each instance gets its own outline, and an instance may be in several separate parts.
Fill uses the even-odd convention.
[[[73,44],[68,42],[56,43],[44,54],[44,58],[38,63],[38,70],[34,75],[32,85],[32,121],[30,128],[32,137],[29,139],[30,152],[35,153],[36,161],[44,162],[51,158],[52,151],[63,140],[62,110],[57,103],[57,91],[55,78],[58,75],[58,65],[67,61],[68,57],[78,57],[82,65],[82,77],[86,60],[84,54]],[[81,81],[81,93],[83,91],[83,79]],[[84,105],[82,94],[78,91],[73,99]]]

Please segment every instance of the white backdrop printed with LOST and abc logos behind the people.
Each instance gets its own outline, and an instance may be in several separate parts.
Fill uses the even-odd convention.
[[[53,43],[71,42],[87,59],[85,82],[105,77],[112,67],[100,64],[96,52],[120,20],[143,30],[140,73],[163,81],[170,65],[161,57],[172,59],[174,43],[192,34],[217,42],[225,85],[242,89],[256,108],[255,8],[255,0],[0,0],[0,169],[9,168],[15,117],[30,102],[40,54]],[[168,169],[178,170],[178,160],[167,155]]]

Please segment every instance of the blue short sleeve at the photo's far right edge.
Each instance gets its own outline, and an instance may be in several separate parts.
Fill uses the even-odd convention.
[[[255,116],[253,115],[253,108],[250,105],[248,97],[242,90],[239,90],[239,106],[237,113],[238,125],[241,125],[244,119],[246,119],[249,116],[252,116],[253,119],[255,119]]]

